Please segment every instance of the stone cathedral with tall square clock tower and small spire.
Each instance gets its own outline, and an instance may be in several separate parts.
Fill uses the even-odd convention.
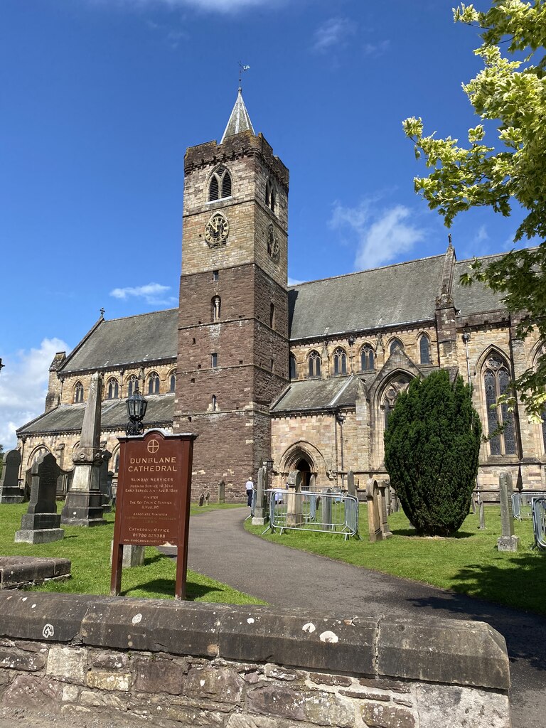
[[[487,264],[488,258],[484,258]],[[102,443],[116,477],[125,399],[137,382],[144,425],[195,432],[193,492],[218,483],[242,499],[271,459],[274,485],[290,470],[306,485],[360,488],[387,477],[384,431],[397,395],[438,368],[472,384],[485,433],[478,487],[500,472],[544,488],[545,430],[491,408],[532,367],[541,342],[479,284],[459,284],[470,261],[446,253],[288,287],[288,169],[254,133],[241,92],[220,143],[184,160],[178,309],[99,320],[50,367],[44,414],[17,431],[21,477],[44,451],[74,465],[90,377],[103,375]]]

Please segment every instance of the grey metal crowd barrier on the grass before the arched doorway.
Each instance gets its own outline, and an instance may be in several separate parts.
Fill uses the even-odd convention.
[[[345,539],[358,535],[356,496],[323,491],[295,493],[278,488],[268,490],[266,494],[269,498],[269,526],[266,530],[278,529],[281,534],[286,530],[314,531],[340,534]]]

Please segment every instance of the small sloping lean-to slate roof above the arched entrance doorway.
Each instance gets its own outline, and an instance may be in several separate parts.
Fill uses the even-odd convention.
[[[357,376],[293,381],[272,407],[272,413],[350,407],[355,404],[359,387]]]

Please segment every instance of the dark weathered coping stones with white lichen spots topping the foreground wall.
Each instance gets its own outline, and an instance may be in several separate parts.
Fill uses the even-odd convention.
[[[505,639],[486,622],[37,592],[0,593],[0,614],[13,640],[510,688]]]

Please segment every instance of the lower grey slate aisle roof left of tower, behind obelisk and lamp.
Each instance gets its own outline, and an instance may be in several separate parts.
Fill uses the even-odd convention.
[[[168,424],[173,422],[175,408],[175,394],[149,395],[148,408],[144,418],[145,427],[155,424]],[[60,407],[46,412],[32,422],[23,425],[17,430],[17,435],[32,435],[48,432],[71,432],[82,430],[84,422],[85,403],[60,405]],[[102,428],[124,430],[127,424],[127,405],[125,400],[105,400],[100,408],[100,425]]]

